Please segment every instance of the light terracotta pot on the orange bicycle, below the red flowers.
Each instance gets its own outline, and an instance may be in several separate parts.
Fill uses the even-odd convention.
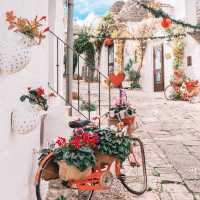
[[[92,168],[88,168],[81,172],[78,168],[73,165],[68,165],[64,160],[58,162],[59,165],[59,177],[63,181],[77,181],[83,180],[89,176],[92,172]]]

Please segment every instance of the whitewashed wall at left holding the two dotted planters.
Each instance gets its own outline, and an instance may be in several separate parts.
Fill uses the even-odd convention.
[[[54,7],[58,16],[62,0],[56,2],[60,3]],[[8,10],[14,10],[18,16],[27,18],[35,15],[49,16],[48,0],[1,0],[0,42],[8,42],[10,45],[14,44],[16,37],[14,33],[7,30],[4,20],[4,14]],[[50,11],[52,10],[50,9]],[[51,20],[53,22],[54,19],[51,18]],[[59,17],[57,20],[60,20]],[[35,199],[33,175],[37,155],[33,153],[33,149],[39,148],[40,126],[29,135],[15,135],[11,132],[11,112],[19,103],[19,97],[26,92],[28,86],[43,86],[47,89],[50,53],[48,46],[49,40],[46,39],[40,46],[33,47],[31,62],[24,70],[10,76],[0,75],[1,199]],[[53,74],[50,77],[52,76]]]

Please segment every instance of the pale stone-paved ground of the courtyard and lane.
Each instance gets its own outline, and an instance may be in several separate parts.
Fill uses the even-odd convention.
[[[200,200],[200,104],[166,101],[162,93],[127,94],[140,122],[135,134],[145,145],[148,191],[136,197],[116,181],[92,200]],[[107,94],[101,98],[105,103]]]

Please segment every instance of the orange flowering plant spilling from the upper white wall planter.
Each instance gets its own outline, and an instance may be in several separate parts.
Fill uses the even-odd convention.
[[[33,20],[17,17],[13,11],[6,12],[6,21],[9,24],[8,29],[14,32],[20,32],[30,37],[31,39],[38,40],[38,44],[45,38],[45,33],[49,31],[49,27],[41,30],[42,22],[46,20],[46,16],[38,18],[36,16]]]

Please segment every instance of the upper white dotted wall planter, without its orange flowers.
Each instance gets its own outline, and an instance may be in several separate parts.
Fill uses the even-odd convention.
[[[31,47],[36,45],[35,40],[24,34],[17,34],[16,45],[2,45],[0,49],[0,73],[13,74],[24,69],[31,60]]]

